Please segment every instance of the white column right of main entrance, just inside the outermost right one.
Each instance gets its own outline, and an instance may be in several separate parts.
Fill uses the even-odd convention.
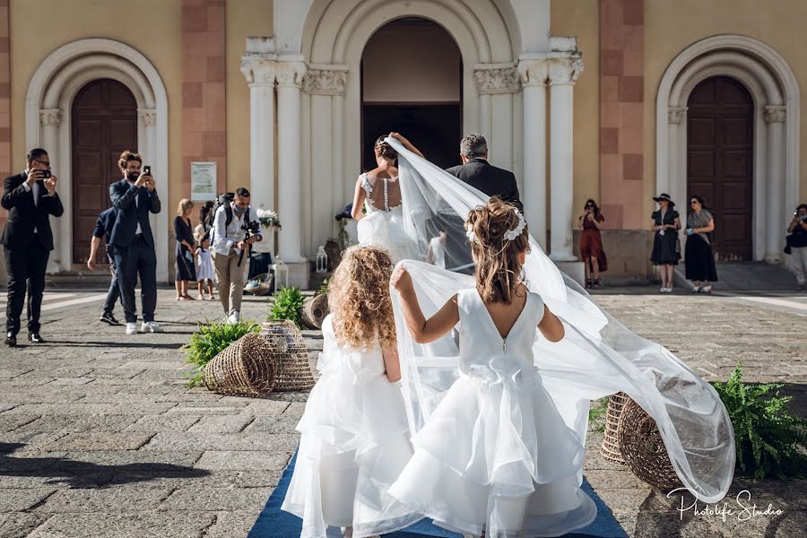
[[[546,250],[546,59],[518,63],[524,85],[524,214],[530,233]]]

